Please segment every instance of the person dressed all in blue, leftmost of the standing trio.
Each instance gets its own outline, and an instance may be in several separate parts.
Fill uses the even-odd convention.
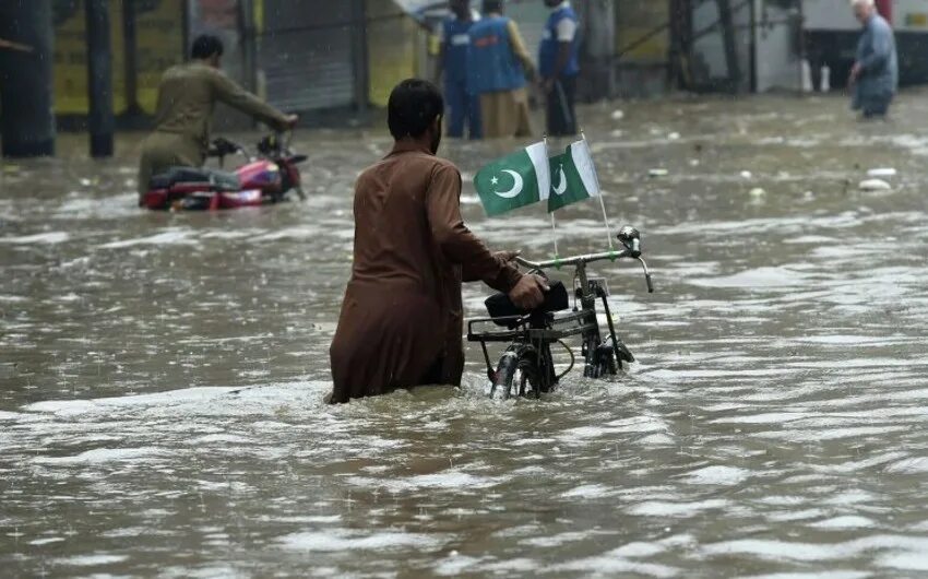
[[[441,23],[438,76],[444,73],[444,101],[448,104],[448,135],[462,139],[464,126],[471,139],[481,138],[480,99],[467,86],[467,59],[471,51],[471,26],[479,14],[471,11],[469,0],[448,2],[451,17]]]

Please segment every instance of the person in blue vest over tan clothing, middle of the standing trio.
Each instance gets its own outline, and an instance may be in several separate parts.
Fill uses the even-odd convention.
[[[535,64],[519,26],[502,12],[502,0],[484,0],[484,16],[469,33],[467,82],[480,97],[484,137],[488,139],[532,134],[525,79],[534,78]]]

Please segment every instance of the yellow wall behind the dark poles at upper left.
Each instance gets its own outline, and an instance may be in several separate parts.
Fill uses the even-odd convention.
[[[76,1],[73,5],[75,9],[55,27],[55,111],[58,115],[85,115],[88,109],[84,3]],[[154,113],[162,72],[183,60],[183,1],[148,0],[136,2],[136,5],[140,7],[136,23],[139,104],[144,111]],[[118,115],[126,110],[121,1],[110,3],[109,19],[112,101]]]

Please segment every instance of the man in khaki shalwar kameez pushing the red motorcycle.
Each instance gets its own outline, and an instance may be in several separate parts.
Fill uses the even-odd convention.
[[[192,60],[171,67],[158,86],[155,130],[142,142],[139,194],[148,189],[153,175],[172,166],[199,167],[210,149],[210,127],[216,103],[225,103],[276,130],[297,122],[249,93],[221,69],[223,42],[203,35],[193,42]]]

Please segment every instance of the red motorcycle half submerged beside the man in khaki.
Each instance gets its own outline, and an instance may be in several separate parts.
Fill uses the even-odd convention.
[[[216,211],[269,205],[286,201],[290,191],[300,199],[298,165],[306,155],[295,154],[279,134],[267,135],[258,143],[258,156],[227,139],[216,139],[209,156],[223,166],[228,155],[242,155],[248,162],[235,173],[222,169],[171,167],[152,177],[148,191],[140,205],[152,210]]]

